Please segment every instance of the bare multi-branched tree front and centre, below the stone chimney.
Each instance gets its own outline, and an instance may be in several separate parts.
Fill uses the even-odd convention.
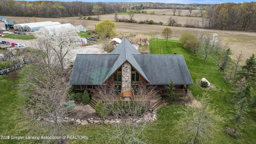
[[[114,86],[110,87],[108,92],[105,86],[100,88],[100,93],[98,93],[98,96],[103,99],[108,111],[112,114],[110,118],[119,120],[116,124],[103,127],[108,133],[107,137],[110,141],[115,140],[122,144],[146,144],[144,131],[150,129],[152,123],[141,118],[145,118],[149,114],[147,109],[150,106],[150,99],[154,99],[158,92],[154,90],[154,87],[147,88],[147,90],[140,88],[138,95],[132,98],[133,101],[120,101],[120,97],[117,97],[114,92]]]

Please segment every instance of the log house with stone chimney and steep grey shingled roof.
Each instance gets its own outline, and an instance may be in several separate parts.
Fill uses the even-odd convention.
[[[75,92],[87,90],[91,96],[104,85],[122,100],[124,90],[136,95],[148,86],[155,86],[165,96],[170,79],[176,94],[186,94],[193,84],[183,55],[140,54],[124,39],[110,54],[77,54],[69,82]]]

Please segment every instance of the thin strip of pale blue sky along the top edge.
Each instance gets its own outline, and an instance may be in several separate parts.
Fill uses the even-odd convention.
[[[26,0],[26,1],[38,1],[38,0]],[[72,1],[82,1],[82,2],[160,2],[160,3],[174,3],[174,4],[218,4],[220,2],[234,2],[243,3],[254,2],[255,0],[47,0],[47,1],[62,1],[62,2],[72,2]]]

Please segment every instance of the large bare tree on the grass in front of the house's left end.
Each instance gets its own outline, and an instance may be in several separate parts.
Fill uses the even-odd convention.
[[[38,69],[39,68],[39,69]],[[27,98],[26,108],[36,118],[44,118],[43,128],[47,128],[48,136],[58,136],[56,142],[64,140],[65,127],[62,119],[72,112],[72,106],[64,105],[70,88],[64,76],[55,69],[38,63],[26,71],[22,82],[22,96]],[[39,128],[41,128],[39,126]],[[46,140],[49,143],[50,140]]]

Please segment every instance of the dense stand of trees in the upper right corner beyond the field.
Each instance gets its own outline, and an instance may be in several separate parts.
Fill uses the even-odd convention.
[[[256,30],[256,2],[233,2],[206,7],[204,27],[220,30]]]

